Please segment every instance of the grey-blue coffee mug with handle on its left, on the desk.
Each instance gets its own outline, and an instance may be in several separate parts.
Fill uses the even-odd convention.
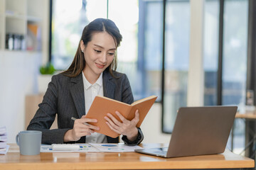
[[[40,154],[42,132],[37,130],[25,130],[16,135],[16,143],[23,155]]]

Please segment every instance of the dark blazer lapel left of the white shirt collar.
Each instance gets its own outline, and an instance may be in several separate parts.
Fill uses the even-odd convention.
[[[85,115],[85,92],[82,82],[82,74],[78,77],[71,78],[70,93],[75,103],[75,108],[78,111],[79,118]]]

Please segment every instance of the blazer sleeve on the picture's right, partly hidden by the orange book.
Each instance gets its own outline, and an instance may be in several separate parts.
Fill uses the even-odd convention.
[[[122,84],[122,102],[132,104],[134,102],[134,97],[132,95],[132,88],[129,84],[129,79],[127,78],[127,75],[124,74],[124,81]],[[122,140],[126,145],[139,145],[142,140],[144,139],[144,135],[142,133],[142,130],[140,128],[138,129],[138,136],[137,139],[134,141],[130,141],[127,139],[127,136],[123,135]]]

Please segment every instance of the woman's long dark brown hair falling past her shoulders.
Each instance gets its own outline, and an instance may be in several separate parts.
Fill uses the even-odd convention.
[[[114,43],[116,47],[119,47],[120,42],[122,41],[122,35],[119,33],[119,29],[115,25],[113,21],[110,19],[105,18],[97,18],[94,21],[90,22],[85,28],[82,30],[82,37],[80,41],[84,43],[86,46],[88,42],[92,40],[92,34],[93,33],[99,33],[99,32],[107,32],[109,33],[112,38],[114,38]],[[82,53],[80,42],[78,43],[78,50],[75,52],[75,57],[70,65],[70,67],[63,72],[63,74],[67,77],[77,77],[82,70],[85,68],[85,57]],[[110,64],[109,67],[107,67],[107,71],[112,74],[112,70],[117,69],[117,52],[114,55],[114,60]]]

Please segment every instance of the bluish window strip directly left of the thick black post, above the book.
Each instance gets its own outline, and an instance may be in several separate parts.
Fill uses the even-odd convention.
[[[135,94],[141,97],[156,95],[156,100],[161,101],[163,2],[139,2],[139,82]]]

